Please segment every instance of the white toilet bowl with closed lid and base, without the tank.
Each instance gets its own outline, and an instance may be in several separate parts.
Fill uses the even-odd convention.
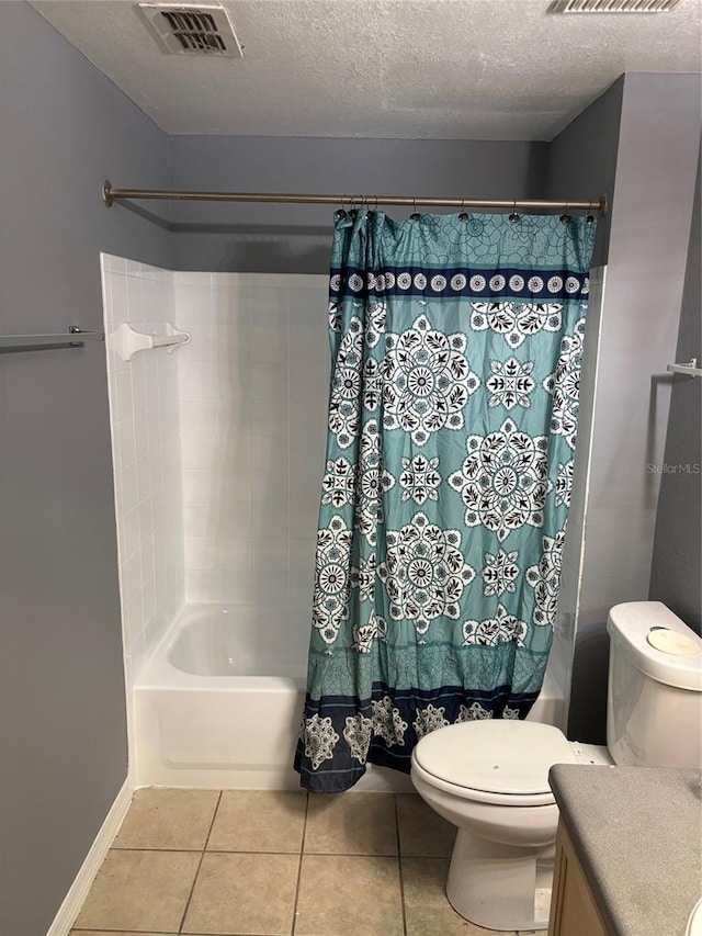
[[[422,738],[411,778],[457,826],[446,883],[457,913],[492,929],[547,925],[558,824],[548,770],[577,763],[611,759],[539,722],[463,722]]]

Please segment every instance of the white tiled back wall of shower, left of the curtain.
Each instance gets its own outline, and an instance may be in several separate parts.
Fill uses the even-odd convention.
[[[312,601],[327,278],[174,273],[188,601]],[[305,633],[305,639],[307,634]]]

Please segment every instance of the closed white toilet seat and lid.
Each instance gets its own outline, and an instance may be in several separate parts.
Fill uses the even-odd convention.
[[[540,722],[485,720],[426,735],[412,767],[438,789],[495,805],[551,805],[554,764],[578,763],[563,732]]]

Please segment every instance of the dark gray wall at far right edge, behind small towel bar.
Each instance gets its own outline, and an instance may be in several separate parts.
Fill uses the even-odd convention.
[[[702,151],[690,228],[688,268],[678,332],[677,361],[702,361],[702,296],[700,295],[700,193]],[[656,519],[649,597],[663,601],[698,633],[702,633],[702,380],[675,376]],[[679,466],[689,465],[690,473]],[[694,472],[698,472],[697,474]]]

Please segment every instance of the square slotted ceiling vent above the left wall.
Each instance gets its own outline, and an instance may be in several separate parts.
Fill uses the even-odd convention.
[[[231,20],[219,4],[139,3],[138,8],[160,48],[170,55],[244,55]]]

